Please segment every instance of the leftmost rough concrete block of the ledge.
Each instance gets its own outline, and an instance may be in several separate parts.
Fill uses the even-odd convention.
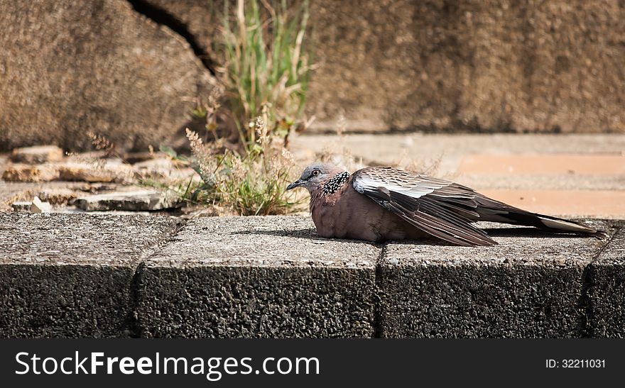
[[[131,335],[136,262],[173,218],[0,213],[0,338]]]

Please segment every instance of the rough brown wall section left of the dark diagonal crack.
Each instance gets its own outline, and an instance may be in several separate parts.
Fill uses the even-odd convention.
[[[0,0],[0,149],[166,143],[214,81],[188,43],[124,0]]]

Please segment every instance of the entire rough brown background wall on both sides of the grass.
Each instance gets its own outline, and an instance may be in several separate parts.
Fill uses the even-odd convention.
[[[222,1],[2,0],[0,148],[173,141]],[[317,130],[625,131],[622,1],[310,1]],[[208,68],[207,68],[208,67]],[[212,69],[211,69],[212,67]]]

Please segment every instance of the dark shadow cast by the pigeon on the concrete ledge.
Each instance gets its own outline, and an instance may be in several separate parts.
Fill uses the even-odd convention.
[[[541,231],[537,228],[484,228],[482,231],[486,232],[491,237],[511,237],[511,238],[576,238],[579,235],[575,235],[572,233],[549,233],[545,231]],[[352,239],[337,239],[337,238],[323,238],[317,234],[315,228],[303,228],[303,229],[292,229],[292,230],[276,230],[276,231],[237,231],[232,232],[233,235],[273,235],[277,237],[294,237],[294,238],[303,238],[305,240],[343,240],[350,241],[354,243],[365,243],[371,244],[370,241],[364,240],[352,240]],[[388,240],[390,241],[390,240]],[[388,241],[379,241],[376,244],[387,243]],[[410,243],[412,245],[442,245],[442,246],[457,246],[452,243],[448,243],[445,240],[441,240],[440,238],[421,238],[419,240],[395,240],[398,243]]]

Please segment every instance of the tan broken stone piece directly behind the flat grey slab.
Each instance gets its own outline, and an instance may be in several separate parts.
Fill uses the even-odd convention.
[[[129,182],[132,167],[113,162],[67,162],[59,165],[60,180],[84,182]]]

